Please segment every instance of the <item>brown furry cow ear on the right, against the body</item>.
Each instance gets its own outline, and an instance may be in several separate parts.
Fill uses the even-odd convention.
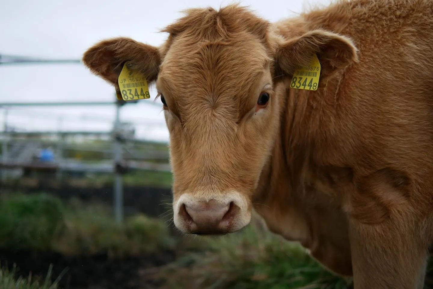
[[[316,54],[321,65],[320,79],[326,80],[339,69],[357,62],[357,52],[348,37],[319,29],[283,42],[275,60],[283,74],[293,75],[297,68],[308,66]]]

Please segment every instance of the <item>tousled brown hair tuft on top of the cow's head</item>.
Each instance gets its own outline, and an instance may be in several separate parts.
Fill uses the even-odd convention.
[[[230,39],[237,32],[249,32],[265,39],[270,22],[256,16],[248,6],[231,4],[215,10],[212,7],[190,8],[185,15],[168,25],[161,32],[175,37],[182,32],[209,42]]]

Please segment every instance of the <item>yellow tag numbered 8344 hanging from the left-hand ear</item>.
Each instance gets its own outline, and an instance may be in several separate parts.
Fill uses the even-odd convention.
[[[147,80],[138,71],[132,71],[128,63],[123,64],[117,80],[123,100],[145,100],[150,98]]]

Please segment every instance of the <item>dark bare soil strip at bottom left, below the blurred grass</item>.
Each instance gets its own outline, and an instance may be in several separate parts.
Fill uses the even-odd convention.
[[[60,289],[156,289],[161,283],[148,273],[174,261],[175,257],[171,250],[123,258],[110,258],[106,253],[64,256],[52,252],[0,250],[1,266],[12,269],[16,263],[16,272],[21,276],[31,273],[32,279],[38,276],[43,280],[52,264],[54,281],[66,269],[59,282]]]

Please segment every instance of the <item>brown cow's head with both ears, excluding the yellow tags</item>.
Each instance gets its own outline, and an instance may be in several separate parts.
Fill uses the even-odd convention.
[[[248,225],[252,196],[278,135],[275,81],[309,64],[322,78],[356,57],[341,35],[322,30],[285,39],[244,7],[190,9],[154,47],[128,38],[97,43],[84,64],[117,86],[123,63],[156,84],[170,133],[174,224],[224,234]]]

